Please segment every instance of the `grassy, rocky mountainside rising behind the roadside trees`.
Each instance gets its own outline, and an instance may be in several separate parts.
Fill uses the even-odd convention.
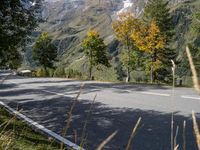
[[[112,80],[117,80],[123,77],[118,58],[121,46],[115,39],[111,23],[117,14],[124,11],[131,11],[141,17],[146,3],[147,0],[46,0],[41,14],[43,21],[35,35],[47,31],[52,36],[58,47],[58,66],[76,68],[86,73],[87,62],[81,42],[87,31],[95,28],[108,45],[112,58],[113,67],[106,69],[105,76],[112,76]],[[199,0],[170,0],[169,3],[176,26],[173,47],[183,51],[183,45],[189,40],[192,12],[200,6]],[[181,50],[178,52],[181,53]]]

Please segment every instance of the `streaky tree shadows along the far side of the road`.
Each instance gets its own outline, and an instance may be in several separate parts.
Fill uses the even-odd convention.
[[[58,93],[76,94],[84,83],[83,93],[98,92],[102,90],[112,90],[114,93],[130,93],[134,91],[148,91],[148,90],[169,90],[169,87],[161,85],[147,85],[147,84],[125,84],[125,83],[98,83],[95,81],[77,81],[68,79],[54,79],[54,78],[24,78],[20,76],[10,76],[9,79],[25,79],[20,81],[19,84],[26,85],[27,88],[32,88],[32,85],[40,86],[44,90],[50,90]],[[52,84],[53,83],[53,84]],[[52,84],[52,85],[51,85]],[[30,87],[29,87],[30,85]],[[0,89],[14,88],[17,84],[3,84]]]

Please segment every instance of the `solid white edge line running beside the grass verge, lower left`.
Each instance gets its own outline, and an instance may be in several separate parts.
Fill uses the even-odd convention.
[[[25,120],[28,124],[32,125],[36,129],[39,129],[39,130],[43,131],[44,133],[46,133],[47,135],[54,137],[58,141],[63,142],[64,144],[66,144],[67,146],[73,148],[74,150],[85,150],[85,149],[79,147],[78,145],[76,145],[75,143],[72,143],[71,141],[63,138],[62,136],[56,134],[55,132],[45,128],[44,126],[40,125],[39,123],[37,123],[37,122],[33,121],[32,119],[26,117],[25,115],[21,114],[19,111],[16,111],[16,110],[12,109],[11,107],[9,107],[8,105],[6,105],[5,103],[3,103],[1,101],[0,101],[0,105],[4,106],[11,113],[13,113],[16,116],[18,116],[19,118]]]

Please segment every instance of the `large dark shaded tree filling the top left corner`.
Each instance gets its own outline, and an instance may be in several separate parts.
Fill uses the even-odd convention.
[[[35,29],[39,2],[1,0],[0,2],[0,66],[16,68],[24,39]],[[12,62],[13,61],[13,62]]]

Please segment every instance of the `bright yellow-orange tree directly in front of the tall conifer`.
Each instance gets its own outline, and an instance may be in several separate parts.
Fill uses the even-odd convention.
[[[139,28],[132,32],[131,39],[139,50],[150,55],[150,74],[151,82],[153,82],[155,80],[155,69],[159,69],[159,66],[162,66],[158,53],[164,48],[165,38],[162,36],[156,23],[152,21],[149,25],[140,22]]]

